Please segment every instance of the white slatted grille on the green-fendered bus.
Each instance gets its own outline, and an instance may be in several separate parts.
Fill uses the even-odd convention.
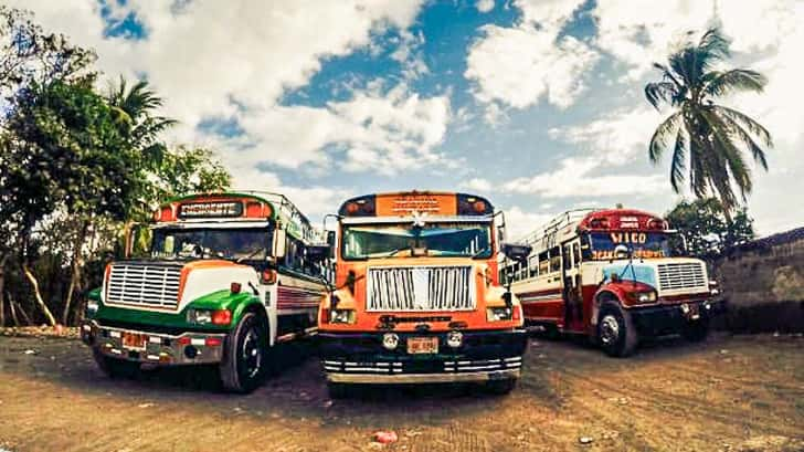
[[[177,308],[181,266],[113,264],[106,288],[109,304]]]

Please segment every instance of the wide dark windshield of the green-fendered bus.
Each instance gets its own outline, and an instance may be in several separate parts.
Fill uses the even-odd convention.
[[[156,229],[155,259],[265,260],[271,246],[267,228]]]

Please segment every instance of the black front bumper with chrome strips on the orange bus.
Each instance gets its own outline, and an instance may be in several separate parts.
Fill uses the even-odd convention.
[[[396,333],[399,347],[388,350],[378,333],[319,333],[327,379],[348,383],[421,383],[488,381],[518,378],[528,337],[525,330],[462,332],[452,348],[446,333]],[[409,355],[410,337],[438,337],[438,353]]]

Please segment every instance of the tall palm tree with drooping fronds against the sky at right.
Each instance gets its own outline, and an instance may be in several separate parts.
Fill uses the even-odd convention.
[[[771,134],[757,120],[715,103],[737,92],[761,93],[768,83],[755,71],[720,69],[719,63],[729,56],[729,41],[719,29],[709,29],[697,43],[688,41],[670,54],[667,65],[654,63],[662,81],[645,85],[645,96],[656,109],[660,102],[675,109],[650,138],[650,161],[657,164],[671,148],[673,190],[680,191],[689,168],[692,193],[698,198],[717,195],[727,214],[738,206],[733,187],[744,202],[753,186],[744,151],[768,170],[762,146],[773,147]]]

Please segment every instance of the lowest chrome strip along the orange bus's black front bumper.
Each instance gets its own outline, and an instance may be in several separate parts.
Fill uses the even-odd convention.
[[[443,383],[476,382],[519,378],[519,369],[496,370],[491,372],[463,374],[338,374],[327,372],[327,380],[336,383],[359,385],[402,385],[402,383]]]

